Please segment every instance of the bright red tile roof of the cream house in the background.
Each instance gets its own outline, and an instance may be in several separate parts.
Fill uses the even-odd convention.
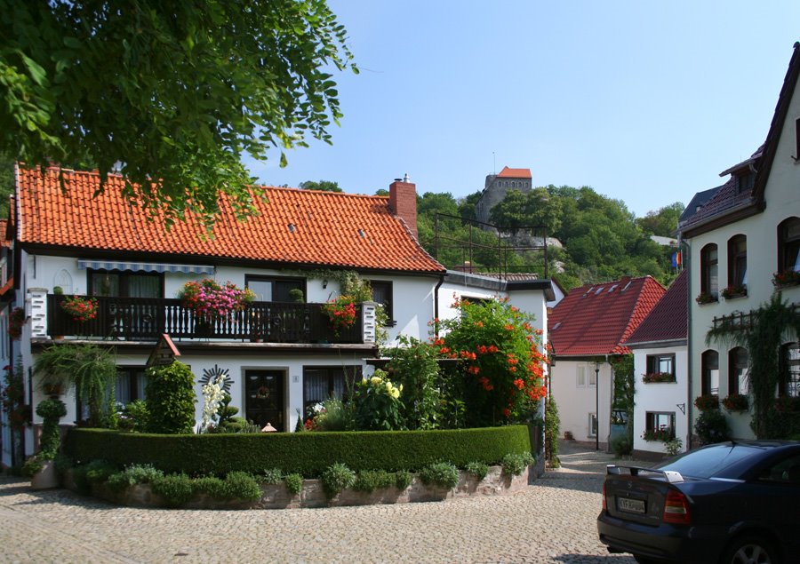
[[[548,315],[548,338],[556,359],[629,353],[623,343],[665,291],[651,276],[570,290]]]

